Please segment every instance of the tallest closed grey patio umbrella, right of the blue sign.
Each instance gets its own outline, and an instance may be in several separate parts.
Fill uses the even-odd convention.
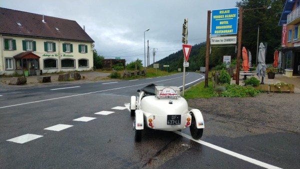
[[[256,75],[258,77],[262,76],[261,83],[263,83],[263,77],[265,77],[265,55],[264,55],[264,45],[262,42],[259,44],[259,51],[258,51],[258,63],[256,67]]]

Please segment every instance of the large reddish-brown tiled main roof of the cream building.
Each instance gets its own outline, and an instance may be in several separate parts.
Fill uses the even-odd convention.
[[[41,14],[0,7],[0,34],[94,42],[74,20],[46,15],[44,20]]]

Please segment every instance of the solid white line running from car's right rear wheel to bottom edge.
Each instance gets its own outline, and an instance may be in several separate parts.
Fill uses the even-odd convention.
[[[228,155],[232,155],[232,156],[237,157],[237,158],[239,158],[239,159],[248,161],[248,162],[253,163],[253,164],[255,164],[255,165],[259,165],[259,166],[265,167],[265,168],[279,168],[279,167],[277,167],[277,166],[274,166],[274,165],[270,165],[270,164],[268,164],[268,163],[261,162],[261,161],[259,161],[259,160],[256,160],[256,159],[247,157],[247,156],[245,156],[245,155],[241,155],[241,154],[239,154],[239,153],[236,153],[236,152],[230,151],[230,150],[228,150],[228,149],[225,149],[225,148],[222,148],[222,147],[213,145],[213,144],[211,144],[211,143],[208,143],[208,142],[205,142],[205,141],[202,141],[202,140],[199,140],[199,139],[193,139],[190,135],[184,134],[184,133],[182,133],[182,132],[179,132],[179,131],[173,131],[173,132],[176,133],[176,134],[179,134],[179,135],[181,135],[181,136],[184,136],[184,137],[186,137],[186,138],[188,138],[188,139],[190,139],[190,140],[196,141],[196,142],[198,142],[198,143],[200,143],[200,144],[202,144],[202,145],[206,145],[206,146],[208,146],[208,147],[210,147],[210,148],[213,148],[213,149],[215,149],[215,150],[221,151],[221,152],[226,153],[226,154],[228,154]]]

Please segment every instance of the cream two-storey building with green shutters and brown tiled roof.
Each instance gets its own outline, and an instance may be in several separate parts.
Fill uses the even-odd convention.
[[[0,13],[0,74],[92,69],[94,41],[76,21],[2,7]]]

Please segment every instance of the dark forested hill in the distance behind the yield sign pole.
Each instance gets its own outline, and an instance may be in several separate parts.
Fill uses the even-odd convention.
[[[206,42],[201,42],[191,46],[191,50],[188,56],[189,67],[186,67],[186,71],[199,70],[200,66],[205,66],[205,44]],[[175,53],[164,57],[155,63],[159,63],[159,69],[165,70],[163,65],[169,65],[168,71],[177,71],[178,68],[183,70],[183,50],[179,50]],[[153,67],[153,64],[150,64]]]

